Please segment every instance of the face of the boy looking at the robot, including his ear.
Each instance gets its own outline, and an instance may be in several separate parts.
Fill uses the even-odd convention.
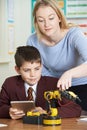
[[[20,68],[16,66],[15,69],[26,83],[34,85],[40,80],[42,64],[37,62],[24,62]]]

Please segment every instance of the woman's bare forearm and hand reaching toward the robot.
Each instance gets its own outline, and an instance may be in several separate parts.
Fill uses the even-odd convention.
[[[83,63],[75,68],[66,71],[58,80],[57,87],[61,90],[71,87],[72,78],[87,76],[87,63]]]

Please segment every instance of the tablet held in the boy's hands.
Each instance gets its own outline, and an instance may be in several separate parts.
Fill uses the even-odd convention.
[[[26,113],[27,111],[31,111],[32,109],[35,109],[35,102],[34,101],[11,101],[11,106],[13,108],[22,110]]]

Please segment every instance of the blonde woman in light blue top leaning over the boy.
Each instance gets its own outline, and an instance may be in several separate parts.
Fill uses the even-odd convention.
[[[56,0],[37,0],[33,17],[36,32],[27,45],[39,49],[42,75],[58,77],[57,87],[78,94],[87,110],[87,37],[69,26]]]

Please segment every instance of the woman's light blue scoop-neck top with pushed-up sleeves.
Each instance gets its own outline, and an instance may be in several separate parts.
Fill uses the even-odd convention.
[[[87,62],[87,37],[77,27],[72,27],[67,35],[54,46],[46,46],[32,34],[27,45],[36,47],[42,56],[42,75],[60,77],[65,71]],[[72,79],[72,86],[87,84],[87,77]]]

